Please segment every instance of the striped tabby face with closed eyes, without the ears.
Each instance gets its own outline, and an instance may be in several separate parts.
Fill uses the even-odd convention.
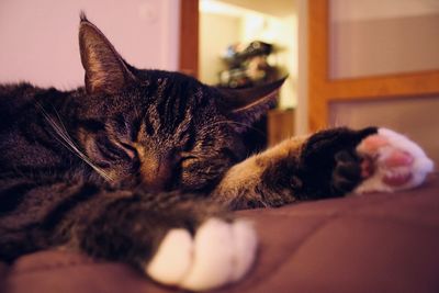
[[[234,122],[216,91],[165,71],[81,103],[78,137],[87,156],[114,180],[151,190],[202,190],[243,157]]]

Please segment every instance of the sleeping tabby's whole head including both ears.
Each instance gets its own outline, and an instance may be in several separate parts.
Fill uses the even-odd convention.
[[[115,182],[161,191],[202,191],[243,159],[240,135],[273,104],[283,80],[248,90],[209,87],[192,77],[128,65],[81,16],[86,94],[78,140]]]

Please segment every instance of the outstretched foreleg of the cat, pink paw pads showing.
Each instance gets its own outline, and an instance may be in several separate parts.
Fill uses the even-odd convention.
[[[286,139],[235,165],[212,198],[248,209],[351,191],[390,192],[419,185],[432,167],[417,144],[393,131],[331,128]]]

